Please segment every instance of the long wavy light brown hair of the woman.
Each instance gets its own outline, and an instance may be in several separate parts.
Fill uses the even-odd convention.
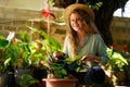
[[[91,34],[98,33],[98,29],[96,29],[93,21],[91,20],[91,17],[89,16],[89,14],[86,11],[83,11],[81,9],[76,9],[73,11],[73,13],[78,13],[80,15],[81,20],[84,21],[87,23],[87,25],[89,25],[89,28],[86,27],[86,25],[83,27],[86,35],[91,35]],[[76,50],[77,33],[70,26],[70,20],[69,20],[68,38],[69,38],[69,49],[70,49],[69,55],[75,57],[77,54],[77,50]]]

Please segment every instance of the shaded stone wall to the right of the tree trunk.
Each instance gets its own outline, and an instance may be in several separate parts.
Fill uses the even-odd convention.
[[[115,45],[123,46],[130,44],[130,17],[114,17],[110,33]]]

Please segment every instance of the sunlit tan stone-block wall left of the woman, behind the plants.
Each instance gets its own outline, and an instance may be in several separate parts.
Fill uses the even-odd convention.
[[[37,33],[31,32],[27,26],[35,27],[38,29],[42,29],[48,33],[48,24],[43,21],[12,21],[12,22],[4,22],[0,23],[0,35],[6,37],[9,32],[15,32],[15,37],[20,38],[18,32],[20,30],[27,30],[30,34],[30,39],[35,40],[40,38]],[[64,38],[66,35],[66,26],[65,25],[57,25],[54,23],[50,23],[50,36],[55,38],[63,45]]]

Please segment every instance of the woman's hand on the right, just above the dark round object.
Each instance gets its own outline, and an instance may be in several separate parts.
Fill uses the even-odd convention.
[[[95,61],[95,62],[101,62],[101,59],[99,57],[92,55],[92,54],[86,54],[82,57],[81,62],[86,63],[88,61]]]

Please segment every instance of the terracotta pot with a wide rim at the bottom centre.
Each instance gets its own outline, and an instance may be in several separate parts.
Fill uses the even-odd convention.
[[[47,87],[76,87],[76,78],[43,78]]]

